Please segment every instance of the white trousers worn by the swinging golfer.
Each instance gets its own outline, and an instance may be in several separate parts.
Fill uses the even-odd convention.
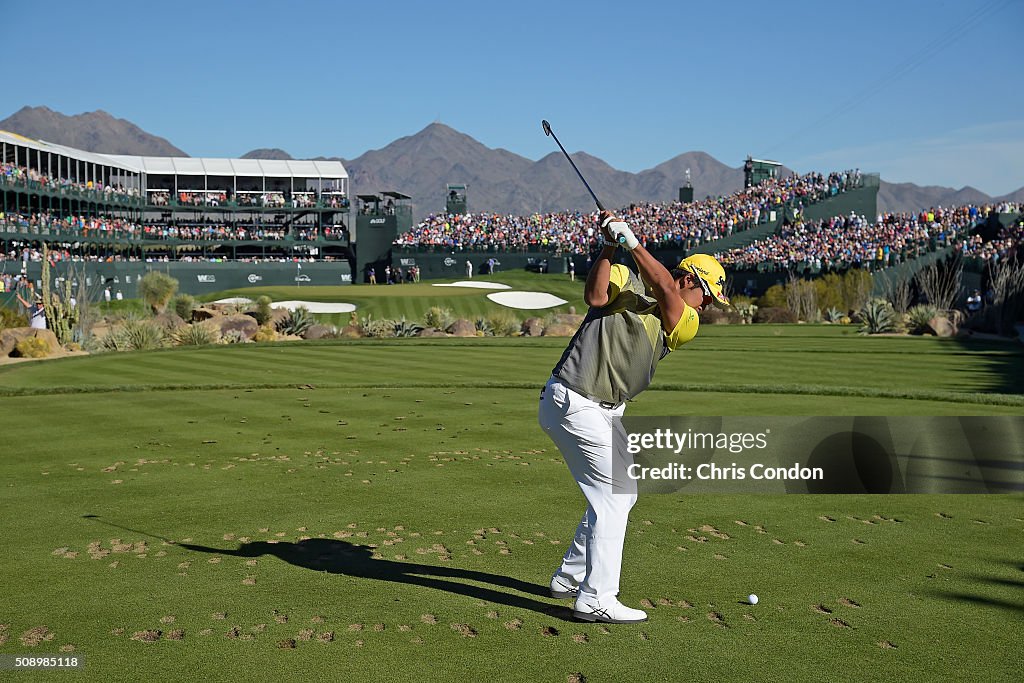
[[[587,499],[587,511],[557,573],[580,584],[582,599],[602,604],[618,594],[626,523],[637,501],[636,481],[626,476],[633,457],[611,447],[612,418],[625,408],[602,407],[551,378],[538,414]]]

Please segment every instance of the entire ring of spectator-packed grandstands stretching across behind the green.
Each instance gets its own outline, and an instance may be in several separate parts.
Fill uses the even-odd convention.
[[[342,164],[100,155],[0,131],[0,278],[37,280],[52,263],[134,294],[147,269],[193,294],[249,285],[338,285],[416,266],[425,278],[526,267],[586,272],[599,249],[595,212],[446,213],[413,224],[400,193],[359,195],[350,212]],[[880,179],[859,170],[774,174],[725,197],[637,203],[620,212],[663,262],[713,253],[757,293],[793,275],[848,268],[912,271],[965,257],[975,270],[1016,254],[1013,204],[878,213]],[[400,219],[400,220],[396,220]],[[361,260],[349,240],[366,229]],[[386,229],[384,229],[386,227]],[[407,229],[408,228],[408,229]],[[371,253],[372,252],[372,253]],[[625,259],[625,257],[623,257]]]

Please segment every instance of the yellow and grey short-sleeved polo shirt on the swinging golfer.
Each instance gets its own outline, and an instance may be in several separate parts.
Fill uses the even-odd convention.
[[[608,303],[591,307],[552,375],[593,400],[622,403],[646,389],[658,361],[697,334],[697,311],[683,305],[671,334],[657,300],[625,265],[611,266]]]

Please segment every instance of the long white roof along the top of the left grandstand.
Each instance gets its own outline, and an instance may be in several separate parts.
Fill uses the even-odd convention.
[[[152,175],[234,175],[276,178],[348,178],[348,171],[337,161],[303,161],[276,159],[210,159],[202,157],[138,157],[134,155],[102,155],[76,150],[65,144],[34,140],[24,135],[0,130],[0,142],[16,144],[112,166],[133,173]]]

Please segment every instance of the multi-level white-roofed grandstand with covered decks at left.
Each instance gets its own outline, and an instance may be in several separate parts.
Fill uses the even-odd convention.
[[[45,243],[131,295],[153,267],[193,293],[348,283],[348,183],[336,161],[102,155],[0,131],[0,271],[31,279]]]

